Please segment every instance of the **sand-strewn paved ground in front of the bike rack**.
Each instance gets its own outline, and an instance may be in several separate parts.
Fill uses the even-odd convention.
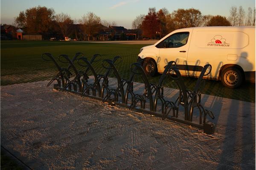
[[[206,135],[46,85],[1,86],[1,145],[32,169],[255,169],[255,117]]]

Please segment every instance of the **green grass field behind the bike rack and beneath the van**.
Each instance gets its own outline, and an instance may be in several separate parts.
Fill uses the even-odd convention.
[[[89,59],[93,54],[101,54],[102,59],[122,57],[122,64],[117,65],[122,78],[129,77],[130,64],[136,62],[140,48],[145,45],[100,44],[83,42],[58,42],[58,41],[1,41],[1,85],[11,85],[26,82],[47,80],[57,74],[53,62],[43,61],[41,54],[51,53],[55,59],[60,54],[67,54],[70,58],[76,52],[84,53]],[[61,64],[60,64],[61,65]],[[66,67],[62,64],[63,67]],[[96,72],[104,74],[101,62],[94,63]],[[81,68],[79,68],[81,69]],[[160,75],[149,78],[151,83],[157,83]],[[193,89],[195,78],[183,77],[189,89]],[[140,82],[140,79],[135,79]],[[167,82],[166,86],[177,88],[174,83]],[[241,88],[225,88],[221,82],[207,80],[204,94],[222,96],[231,99],[255,102],[255,84],[245,82]]]

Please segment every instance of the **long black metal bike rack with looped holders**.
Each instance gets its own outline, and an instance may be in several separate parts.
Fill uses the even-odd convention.
[[[97,57],[100,58],[101,55],[95,54],[88,61],[82,53],[76,53],[73,59],[69,59],[67,55],[62,54],[58,57],[58,60],[62,63],[67,63],[68,66],[67,68],[61,68],[51,54],[42,54],[44,60],[52,60],[58,69],[58,74],[51,79],[47,86],[56,80],[57,84],[54,84],[55,89],[99,99],[103,102],[108,102],[110,105],[120,105],[135,111],[160,116],[162,119],[170,119],[175,122],[198,127],[204,129],[204,132],[207,134],[214,133],[215,125],[207,119],[207,116],[214,119],[214,115],[201,105],[201,91],[205,84],[203,77],[210,74],[211,65],[207,64],[204,66],[194,90],[189,91],[174,61],[168,62],[158,84],[155,85],[148,81],[148,77],[143,70],[143,64],[145,64],[143,59],[131,64],[129,79],[122,79],[116,68],[116,65],[122,62],[121,57],[116,56],[113,59],[102,60],[102,67],[106,69],[104,75],[97,74],[93,68],[92,64],[96,62]],[[84,71],[78,71],[74,65],[76,60],[77,64]],[[72,80],[70,80],[72,75],[71,68],[75,74]],[[92,73],[93,81],[89,81],[88,71]],[[111,73],[116,78],[116,85],[112,88],[109,86],[109,75]],[[134,77],[139,77],[143,81],[143,94],[137,94],[134,91]],[[165,98],[164,83],[167,80],[172,81],[179,88],[179,95],[174,101]],[[159,104],[160,106],[158,106]],[[184,114],[179,114],[180,106],[183,107]],[[199,120],[193,119],[194,108],[199,110]],[[172,114],[169,114],[170,112]]]

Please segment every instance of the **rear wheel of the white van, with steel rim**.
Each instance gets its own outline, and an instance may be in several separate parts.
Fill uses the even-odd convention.
[[[229,67],[221,72],[221,82],[227,88],[238,88],[243,81],[242,71],[236,67]]]

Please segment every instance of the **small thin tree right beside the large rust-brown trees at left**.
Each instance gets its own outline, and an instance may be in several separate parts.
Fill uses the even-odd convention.
[[[61,29],[61,33],[64,37],[67,37],[70,25],[74,23],[73,20],[71,20],[71,17],[69,14],[57,14],[56,15],[56,22],[58,26]]]

